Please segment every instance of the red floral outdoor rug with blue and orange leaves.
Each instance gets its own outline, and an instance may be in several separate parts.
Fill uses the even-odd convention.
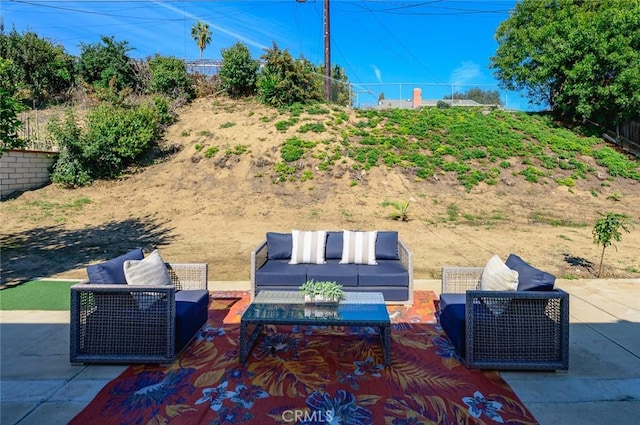
[[[467,369],[434,294],[389,306],[392,365],[374,328],[265,326],[239,363],[246,292],[211,293],[209,321],[168,367],[131,366],[71,424],[536,424],[497,372]]]

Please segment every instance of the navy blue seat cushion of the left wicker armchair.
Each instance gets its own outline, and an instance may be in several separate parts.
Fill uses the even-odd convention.
[[[209,292],[204,289],[176,292],[176,353],[181,351],[207,322]]]

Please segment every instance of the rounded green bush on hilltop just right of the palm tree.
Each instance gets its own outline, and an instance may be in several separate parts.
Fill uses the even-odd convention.
[[[254,94],[260,62],[251,58],[249,48],[238,42],[228,49],[222,49],[221,55],[222,66],[218,76],[225,91],[231,97]]]

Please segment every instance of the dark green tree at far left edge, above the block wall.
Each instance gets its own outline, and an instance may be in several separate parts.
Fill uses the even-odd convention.
[[[0,156],[10,149],[21,148],[25,141],[18,135],[22,122],[18,114],[24,106],[16,98],[16,88],[9,78],[11,61],[0,57]]]

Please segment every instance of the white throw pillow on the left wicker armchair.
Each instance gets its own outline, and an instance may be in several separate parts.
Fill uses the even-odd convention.
[[[143,260],[127,260],[123,265],[124,275],[128,285],[167,285],[173,286],[173,281],[167,271],[167,266],[158,250],[154,250]],[[158,293],[132,292],[131,295],[143,310],[162,297]]]

